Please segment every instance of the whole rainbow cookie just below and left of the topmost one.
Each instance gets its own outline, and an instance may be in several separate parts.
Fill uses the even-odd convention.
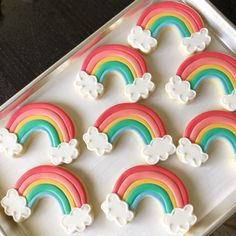
[[[147,98],[155,88],[142,56],[116,44],[94,49],[84,60],[74,85],[83,97],[96,99],[103,93],[104,78],[114,72],[123,77],[125,95],[131,102]]]

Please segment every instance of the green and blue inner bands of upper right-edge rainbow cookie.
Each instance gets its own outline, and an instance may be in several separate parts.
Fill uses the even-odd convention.
[[[217,69],[205,69],[197,73],[189,82],[191,84],[191,89],[196,90],[200,82],[204,79],[217,78],[222,83],[226,94],[232,93],[234,87],[229,79],[229,77],[220,70]]]

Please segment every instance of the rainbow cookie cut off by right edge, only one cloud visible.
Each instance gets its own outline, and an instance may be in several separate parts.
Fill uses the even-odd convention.
[[[208,111],[195,117],[187,125],[184,137],[179,140],[177,156],[183,163],[199,167],[208,159],[209,144],[218,138],[231,144],[236,161],[236,114]]]

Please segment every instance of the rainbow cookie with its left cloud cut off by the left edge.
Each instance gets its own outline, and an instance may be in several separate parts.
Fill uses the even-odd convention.
[[[6,127],[0,129],[0,152],[20,155],[29,137],[38,131],[48,134],[49,156],[54,165],[68,164],[78,157],[78,141],[70,117],[49,103],[31,103],[18,109]]]

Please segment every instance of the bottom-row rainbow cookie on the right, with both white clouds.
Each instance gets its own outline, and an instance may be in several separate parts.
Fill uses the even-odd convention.
[[[134,218],[134,210],[145,197],[153,197],[162,206],[164,223],[172,233],[183,235],[197,221],[182,181],[160,166],[135,166],[117,180],[101,208],[108,220],[124,226]]]

